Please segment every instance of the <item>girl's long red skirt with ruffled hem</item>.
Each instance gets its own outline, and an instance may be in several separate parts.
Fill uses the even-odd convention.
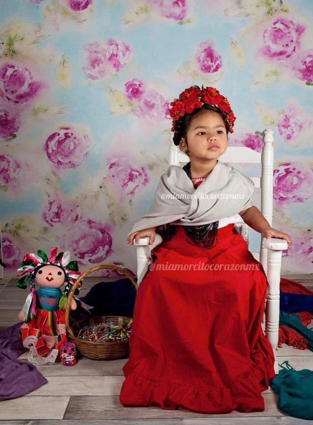
[[[177,226],[153,259],[136,296],[120,403],[263,411],[275,376],[261,327],[268,283],[242,236],[229,224],[206,249]]]

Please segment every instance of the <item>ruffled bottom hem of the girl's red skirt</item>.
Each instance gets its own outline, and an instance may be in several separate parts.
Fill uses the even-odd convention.
[[[266,376],[265,376],[266,375]],[[195,386],[181,381],[158,380],[130,373],[120,390],[120,403],[127,407],[157,406],[164,410],[186,408],[200,413],[264,411],[261,392],[268,389],[267,377],[253,365],[227,386]]]

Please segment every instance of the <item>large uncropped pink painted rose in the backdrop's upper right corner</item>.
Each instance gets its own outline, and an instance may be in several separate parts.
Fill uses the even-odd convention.
[[[263,54],[270,58],[288,58],[300,47],[299,39],[304,30],[303,25],[292,20],[276,18],[263,33]]]

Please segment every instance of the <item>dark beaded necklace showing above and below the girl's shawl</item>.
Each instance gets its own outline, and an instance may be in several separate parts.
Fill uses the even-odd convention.
[[[183,170],[193,181],[190,171],[190,162],[183,166]],[[218,221],[204,224],[202,226],[184,226],[187,241],[192,245],[202,245],[204,248],[211,248],[217,235]]]

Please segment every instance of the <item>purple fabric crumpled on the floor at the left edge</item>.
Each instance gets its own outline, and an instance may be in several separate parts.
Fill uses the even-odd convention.
[[[22,322],[0,331],[0,401],[23,396],[48,381],[28,361],[18,360],[23,354],[19,333]]]

